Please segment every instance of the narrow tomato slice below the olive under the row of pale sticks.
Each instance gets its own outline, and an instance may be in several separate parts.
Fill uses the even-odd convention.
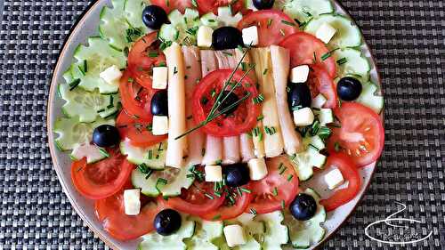
[[[242,186],[242,188],[251,190],[249,184]],[[226,190],[225,192],[227,193],[228,191]],[[229,199],[226,198],[223,206],[218,207],[218,209],[213,210],[210,213],[201,215],[201,218],[206,221],[223,221],[236,218],[239,214],[243,214],[250,204],[252,195],[243,191],[241,191],[241,195],[239,195],[237,190],[230,190],[229,192],[231,193],[231,196],[236,196],[235,204],[229,205]]]

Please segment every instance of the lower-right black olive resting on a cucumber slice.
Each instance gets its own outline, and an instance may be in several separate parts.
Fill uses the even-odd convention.
[[[290,214],[298,221],[307,221],[317,212],[317,202],[305,193],[298,194],[289,206]]]

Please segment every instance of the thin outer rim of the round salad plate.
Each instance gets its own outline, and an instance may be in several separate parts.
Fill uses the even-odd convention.
[[[59,50],[59,55],[57,57],[55,66],[53,68],[53,72],[52,75],[50,77],[51,82],[50,82],[50,90],[48,92],[48,101],[46,102],[46,134],[47,134],[47,139],[48,139],[48,147],[50,149],[50,155],[52,158],[52,162],[53,162],[53,169],[55,170],[56,174],[57,174],[57,179],[58,181],[61,183],[61,188],[63,190],[63,192],[65,193],[65,195],[67,196],[67,198],[69,199],[69,203],[71,204],[71,206],[73,206],[73,208],[75,209],[76,213],[80,216],[80,218],[82,219],[82,221],[86,224],[86,226],[88,227],[89,230],[93,231],[93,234],[99,238],[101,238],[101,240],[105,243],[105,245],[113,248],[113,249],[118,249],[119,246],[117,246],[116,244],[114,244],[112,241],[109,240],[109,235],[103,234],[100,230],[96,230],[93,222],[91,222],[88,217],[84,214],[83,209],[77,204],[77,202],[75,201],[75,198],[71,195],[71,193],[69,192],[69,189],[65,183],[65,181],[62,181],[61,178],[61,170],[60,167],[61,165],[59,165],[59,162],[57,160],[56,155],[56,151],[58,149],[55,149],[55,142],[54,142],[54,135],[53,135],[53,125],[51,123],[51,115],[52,115],[52,107],[53,107],[53,101],[54,101],[54,97],[56,97],[57,95],[55,94],[56,90],[57,90],[57,79],[55,72],[59,71],[59,68],[61,67],[61,59],[64,58],[64,53],[67,51],[68,45],[71,42],[71,40],[74,38],[73,34],[75,33],[75,31],[77,30],[77,28],[81,28],[81,26],[79,25],[80,23],[84,23],[86,16],[89,15],[90,12],[92,12],[93,8],[95,8],[96,5],[101,4],[102,1],[107,1],[107,0],[98,0],[98,1],[93,1],[92,3],[88,4],[85,8],[85,10],[83,12],[80,13],[80,15],[77,17],[77,20],[73,23],[73,25],[71,26],[71,28],[69,28],[69,32],[67,33],[67,35],[65,35],[64,41],[61,45],[61,49]],[[378,66],[376,64],[376,58],[374,56],[374,53],[372,51],[371,46],[368,44],[367,40],[364,38],[363,36],[363,32],[362,29],[360,28],[360,26],[357,24],[357,21],[352,17],[352,15],[348,12],[348,10],[344,7],[344,4],[342,4],[340,1],[338,0],[329,0],[331,1],[335,7],[338,7],[340,10],[342,10],[342,12],[344,12],[344,15],[346,17],[348,17],[350,20],[352,20],[352,23],[355,24],[359,30],[360,30],[360,34],[362,35],[362,45],[365,45],[368,49],[369,52],[369,57],[368,59],[371,60],[372,65],[374,66],[374,68],[376,69],[376,82],[377,85],[379,86],[379,91],[382,94],[382,96],[384,96],[384,91],[383,91],[383,87],[382,87],[382,77],[380,76],[380,71],[378,70]],[[382,122],[383,122],[383,126],[384,126],[384,109],[382,109],[382,112],[380,114],[380,117],[382,118]],[[356,204],[352,207],[352,210],[349,214],[347,214],[346,216],[344,216],[343,220],[341,220],[341,222],[339,223],[339,225],[332,230],[331,232],[328,233],[328,235],[323,238],[319,243],[317,243],[316,245],[312,246],[312,249],[317,249],[320,246],[323,246],[324,244],[326,244],[328,242],[328,240],[330,238],[332,238],[334,235],[336,235],[337,230],[339,230],[340,228],[342,228],[344,226],[344,223],[346,221],[349,220],[349,218],[352,216],[352,214],[354,214],[354,212],[356,211],[357,207],[361,204],[363,198],[365,197],[365,194],[368,192],[369,186],[371,184],[371,181],[376,173],[376,165],[377,163],[380,161],[379,157],[374,165],[374,169],[372,170],[370,177],[369,177],[369,181],[367,186],[365,187],[365,189],[363,190],[360,198],[357,200]]]

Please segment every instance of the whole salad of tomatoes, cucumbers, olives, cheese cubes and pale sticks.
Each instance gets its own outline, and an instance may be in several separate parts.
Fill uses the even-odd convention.
[[[141,249],[322,240],[384,145],[359,28],[329,0],[111,2],[54,125],[104,230]]]

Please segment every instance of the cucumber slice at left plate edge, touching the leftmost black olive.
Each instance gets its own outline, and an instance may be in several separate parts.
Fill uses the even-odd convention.
[[[55,143],[61,150],[74,149],[79,144],[89,143],[93,139],[93,130],[99,125],[114,125],[112,119],[98,118],[93,123],[81,123],[78,117],[59,117],[54,123],[54,133],[58,133]]]

